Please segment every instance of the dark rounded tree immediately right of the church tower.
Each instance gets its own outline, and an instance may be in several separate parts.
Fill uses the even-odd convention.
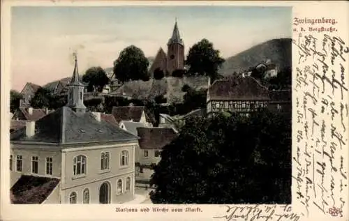
[[[225,61],[219,53],[219,50],[214,49],[213,43],[205,38],[193,45],[186,57],[188,75],[207,75],[216,79],[218,68]]]

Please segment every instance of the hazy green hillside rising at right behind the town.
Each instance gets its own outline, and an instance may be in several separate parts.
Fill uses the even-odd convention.
[[[292,42],[290,38],[268,40],[225,59],[225,63],[223,63],[219,73],[222,75],[231,75],[234,72],[240,73],[267,59],[270,59],[279,68],[290,67],[292,66],[291,47]]]

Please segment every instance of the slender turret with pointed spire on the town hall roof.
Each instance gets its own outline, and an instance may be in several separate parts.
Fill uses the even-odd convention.
[[[68,84],[68,103],[66,106],[73,109],[77,113],[86,112],[86,107],[84,105],[84,84],[79,81],[79,72],[77,70],[77,54],[74,53],[75,57],[75,67],[73,72],[73,77]]]

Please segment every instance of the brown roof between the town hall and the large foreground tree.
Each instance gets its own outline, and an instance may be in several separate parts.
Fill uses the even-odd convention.
[[[178,135],[172,128],[137,128],[142,149],[162,149]]]

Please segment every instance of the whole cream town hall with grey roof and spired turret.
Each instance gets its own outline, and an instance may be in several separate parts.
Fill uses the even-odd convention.
[[[119,204],[135,196],[138,137],[88,112],[77,61],[68,103],[10,137],[14,204]]]

